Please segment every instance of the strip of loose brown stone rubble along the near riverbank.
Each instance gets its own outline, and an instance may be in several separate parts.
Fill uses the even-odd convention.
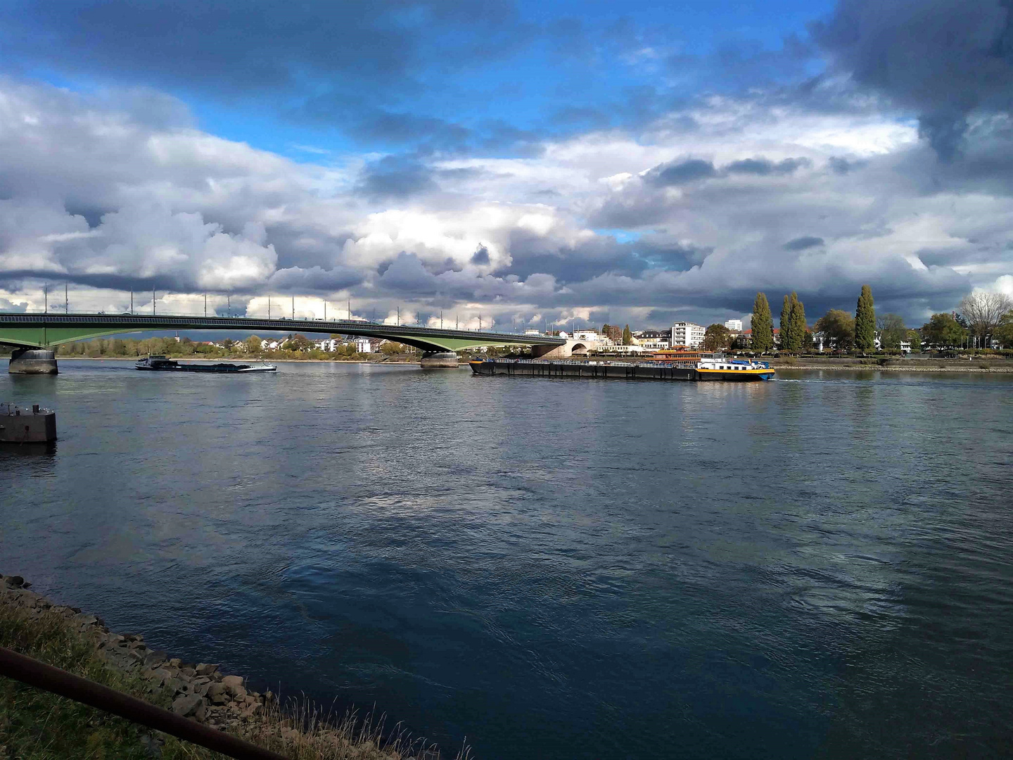
[[[95,640],[102,659],[125,673],[140,675],[150,683],[149,691],[171,691],[172,711],[198,723],[222,730],[239,729],[264,711],[275,700],[270,691],[248,690],[240,676],[225,675],[217,665],[184,663],[161,650],[149,650],[139,633],[112,633],[101,618],[77,607],[57,605],[28,591],[31,584],[20,576],[0,576],[0,603],[63,615],[74,628]]]

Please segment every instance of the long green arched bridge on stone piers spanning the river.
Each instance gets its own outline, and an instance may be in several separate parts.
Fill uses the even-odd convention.
[[[141,314],[0,314],[0,344],[7,344],[28,352],[15,352],[11,358],[11,371],[18,355],[36,355],[44,360],[43,350],[52,362],[51,372],[56,371],[53,347],[61,344],[83,340],[89,337],[115,335],[124,332],[147,332],[152,330],[242,330],[244,332],[323,332],[363,337],[386,338],[413,346],[423,352],[423,366],[441,365],[449,362],[449,355],[465,349],[483,346],[531,346],[536,354],[543,354],[565,340],[551,335],[520,335],[508,332],[486,332],[482,330],[442,329],[407,324],[380,324],[358,320],[338,319],[255,319],[249,317],[208,317]],[[440,355],[443,355],[442,357]],[[34,357],[31,361],[34,361]]]

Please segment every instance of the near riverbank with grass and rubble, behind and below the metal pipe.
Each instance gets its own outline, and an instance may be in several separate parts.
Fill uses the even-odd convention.
[[[293,760],[441,760],[383,719],[335,715],[305,699],[281,700],[217,665],[151,650],[139,634],[112,633],[101,618],[0,576],[0,645],[228,732]],[[0,758],[222,760],[224,755],[0,677]],[[464,748],[456,760],[470,760]]]

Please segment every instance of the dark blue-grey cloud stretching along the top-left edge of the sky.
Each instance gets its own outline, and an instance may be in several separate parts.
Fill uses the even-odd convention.
[[[5,2],[5,55],[66,71],[130,70],[148,81],[221,92],[290,86],[306,74],[417,86],[415,67],[456,39],[467,67],[523,33],[501,0],[290,3],[279,0]],[[465,33],[467,32],[467,33]],[[436,44],[436,45],[435,45]],[[433,46],[433,47],[431,47]],[[353,88],[354,89],[354,88]]]

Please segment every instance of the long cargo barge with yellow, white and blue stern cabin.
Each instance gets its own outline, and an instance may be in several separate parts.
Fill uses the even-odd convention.
[[[520,375],[528,377],[597,377],[615,380],[687,380],[701,382],[727,380],[755,382],[771,380],[774,370],[768,362],[727,359],[720,354],[704,355],[697,361],[668,362],[575,362],[539,359],[476,359],[469,362],[476,375]]]

